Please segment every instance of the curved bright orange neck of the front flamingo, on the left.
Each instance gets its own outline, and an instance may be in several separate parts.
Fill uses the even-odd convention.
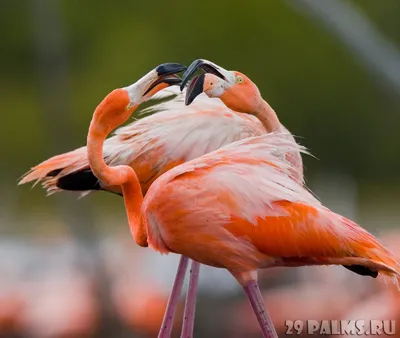
[[[99,106],[93,114],[87,137],[90,168],[93,174],[106,185],[121,186],[129,228],[133,238],[139,246],[147,246],[146,225],[141,215],[143,194],[135,171],[126,165],[110,167],[104,162],[104,141],[114,128],[108,123],[102,123],[101,109],[103,108]]]

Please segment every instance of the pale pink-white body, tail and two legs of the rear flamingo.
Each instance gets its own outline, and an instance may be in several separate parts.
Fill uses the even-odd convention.
[[[218,72],[226,72],[211,62],[203,64],[204,68],[208,64],[209,68],[215,67]],[[146,99],[149,97],[150,95],[147,95]],[[144,194],[157,177],[176,165],[231,142],[266,133],[256,117],[235,112],[220,100],[210,100],[205,94],[199,95],[196,102],[190,106],[184,106],[184,93],[174,90],[174,87],[165,88],[153,96],[153,98],[166,97],[170,100],[153,105],[144,111],[144,113],[157,111],[157,114],[116,130],[115,135],[104,142],[103,155],[106,163],[130,165],[138,175]],[[287,131],[283,126],[282,130]],[[301,157],[299,160],[301,161]],[[109,185],[98,180],[93,174],[86,147],[54,156],[38,164],[22,178],[20,184],[31,181],[42,182],[49,194],[73,190],[86,195],[89,192],[103,190],[122,195],[120,186]],[[176,307],[177,297],[182,288],[187,264],[187,259],[182,257],[162,325],[162,332],[166,336],[172,329],[173,309]],[[194,273],[191,275],[189,296],[185,306],[187,310],[185,317],[189,319],[194,318],[198,275],[198,265],[196,265],[196,262],[192,262]],[[188,332],[192,331],[193,322],[184,320],[183,336],[190,336]]]

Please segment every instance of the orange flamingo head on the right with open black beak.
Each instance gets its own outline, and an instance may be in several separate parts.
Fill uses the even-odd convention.
[[[205,74],[193,77],[186,92],[186,105],[189,105],[202,92],[208,97],[218,97],[225,105],[240,113],[255,113],[261,103],[257,86],[244,74],[228,71],[207,60],[194,61],[183,74],[181,89],[190,77],[202,69]]]

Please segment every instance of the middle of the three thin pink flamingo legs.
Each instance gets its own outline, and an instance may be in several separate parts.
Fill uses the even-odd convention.
[[[190,268],[189,287],[186,294],[185,314],[183,317],[181,338],[192,338],[194,328],[194,317],[196,312],[196,294],[199,281],[200,263],[192,261]]]

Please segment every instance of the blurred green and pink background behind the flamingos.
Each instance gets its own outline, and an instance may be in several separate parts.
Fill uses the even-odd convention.
[[[163,62],[248,75],[317,157],[311,189],[400,258],[399,17],[397,0],[0,0],[0,337],[156,336],[178,257],[137,248],[116,195],[46,198],[17,180],[84,145],[105,94]],[[259,337],[233,278],[201,269],[196,337]],[[400,336],[382,282],[343,268],[260,280],[282,336],[285,320],[360,318],[397,319]]]

